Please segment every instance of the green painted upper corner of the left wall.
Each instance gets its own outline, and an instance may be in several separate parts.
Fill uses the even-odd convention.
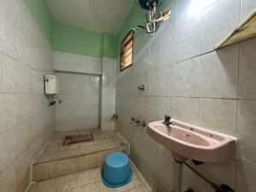
[[[45,0],[23,0],[26,8],[44,32],[49,43],[53,43],[53,19],[49,13],[49,8]]]

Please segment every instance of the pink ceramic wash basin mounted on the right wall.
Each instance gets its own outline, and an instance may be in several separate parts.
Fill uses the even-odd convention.
[[[171,150],[175,160],[218,162],[234,158],[236,137],[208,131],[175,119],[171,121],[173,125],[170,126],[164,125],[163,121],[149,123],[147,132],[155,141]]]

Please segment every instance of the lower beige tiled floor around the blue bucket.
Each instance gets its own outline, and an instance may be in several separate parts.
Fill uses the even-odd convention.
[[[151,192],[143,177],[131,166],[130,183],[119,188],[108,188],[102,183],[101,168],[76,172],[32,184],[28,192]]]

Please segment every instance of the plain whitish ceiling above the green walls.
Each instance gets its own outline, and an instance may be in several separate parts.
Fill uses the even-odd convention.
[[[54,20],[92,32],[117,34],[134,0],[46,0]]]

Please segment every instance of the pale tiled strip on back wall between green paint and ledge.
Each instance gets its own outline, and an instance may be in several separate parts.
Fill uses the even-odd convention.
[[[62,71],[101,74],[102,59],[55,50],[54,68]]]

